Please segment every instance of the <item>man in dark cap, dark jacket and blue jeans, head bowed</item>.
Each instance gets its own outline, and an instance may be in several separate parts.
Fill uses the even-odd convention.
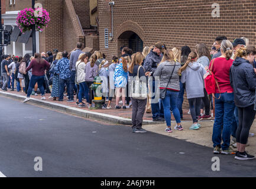
[[[164,51],[163,43],[156,43],[154,47],[151,49],[150,53],[147,55],[144,61],[144,69],[146,71],[146,76],[153,76],[155,70],[157,69],[157,65],[160,63],[162,56],[161,53]],[[151,110],[152,110],[152,118],[153,121],[164,122],[165,119],[160,117],[160,107],[158,100],[155,99],[155,79],[153,77],[152,81],[152,94],[151,97]],[[161,100],[160,100],[161,102]]]

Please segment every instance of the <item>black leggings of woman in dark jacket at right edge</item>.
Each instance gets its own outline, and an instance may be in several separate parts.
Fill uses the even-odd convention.
[[[247,107],[238,107],[239,124],[236,130],[236,142],[247,144],[249,129],[255,118],[254,105]]]

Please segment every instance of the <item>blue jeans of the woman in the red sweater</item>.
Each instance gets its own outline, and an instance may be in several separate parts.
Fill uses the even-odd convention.
[[[219,93],[215,94],[217,98],[219,95]],[[222,150],[228,149],[234,109],[234,93],[221,93],[221,98],[215,99],[215,122],[212,133],[213,147],[219,146]],[[223,141],[222,145],[221,141]]]

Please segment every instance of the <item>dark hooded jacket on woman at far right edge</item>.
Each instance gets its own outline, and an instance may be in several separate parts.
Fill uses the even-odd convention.
[[[230,69],[230,83],[234,89],[235,105],[247,107],[254,104],[256,74],[248,60],[237,57]]]

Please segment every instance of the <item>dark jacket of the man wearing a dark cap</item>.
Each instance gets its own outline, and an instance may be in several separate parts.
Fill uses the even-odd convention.
[[[144,61],[145,72],[150,71],[152,72],[151,76],[153,76],[155,70],[157,69],[157,65],[160,63],[161,59],[162,56],[155,53],[152,49]]]

